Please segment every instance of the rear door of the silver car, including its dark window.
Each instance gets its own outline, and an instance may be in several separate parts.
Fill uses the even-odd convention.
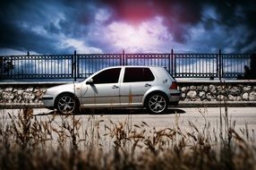
[[[154,85],[155,77],[148,67],[126,67],[120,89],[122,106],[141,106],[142,98]]]

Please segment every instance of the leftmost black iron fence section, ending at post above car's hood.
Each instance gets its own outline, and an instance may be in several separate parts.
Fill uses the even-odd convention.
[[[5,64],[1,64],[1,79],[64,79],[73,77],[73,55],[11,55],[0,57],[13,65],[13,69],[4,72]]]

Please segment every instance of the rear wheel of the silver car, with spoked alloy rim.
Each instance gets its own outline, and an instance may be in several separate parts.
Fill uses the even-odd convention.
[[[164,114],[167,109],[167,99],[162,93],[152,93],[146,99],[146,108],[149,114]]]

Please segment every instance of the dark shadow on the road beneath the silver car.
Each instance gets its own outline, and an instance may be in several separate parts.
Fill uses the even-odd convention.
[[[81,109],[80,113],[75,115],[173,115],[173,114],[185,114],[183,109],[168,108],[164,114],[149,114],[147,109]],[[49,113],[38,114],[39,115],[64,115],[55,111]]]

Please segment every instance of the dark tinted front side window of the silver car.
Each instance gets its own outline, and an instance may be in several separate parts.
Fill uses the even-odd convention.
[[[97,75],[92,77],[94,84],[103,83],[115,83],[118,82],[121,68],[108,69],[103,72],[99,72]]]

